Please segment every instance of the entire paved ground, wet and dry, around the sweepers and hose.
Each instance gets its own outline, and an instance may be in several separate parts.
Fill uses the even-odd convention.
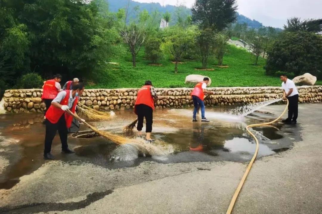
[[[101,137],[69,137],[76,153],[66,155],[57,136],[54,161],[42,159],[42,115],[0,115],[0,213],[225,213],[255,148],[244,127],[283,109],[270,105],[244,118],[207,109],[207,124],[192,123],[190,109],[160,110],[153,136],[163,156]],[[301,104],[297,125],[254,129],[260,157],[233,213],[321,213],[321,110]],[[133,119],[126,111],[89,123],[130,138],[135,132],[122,127]]]

